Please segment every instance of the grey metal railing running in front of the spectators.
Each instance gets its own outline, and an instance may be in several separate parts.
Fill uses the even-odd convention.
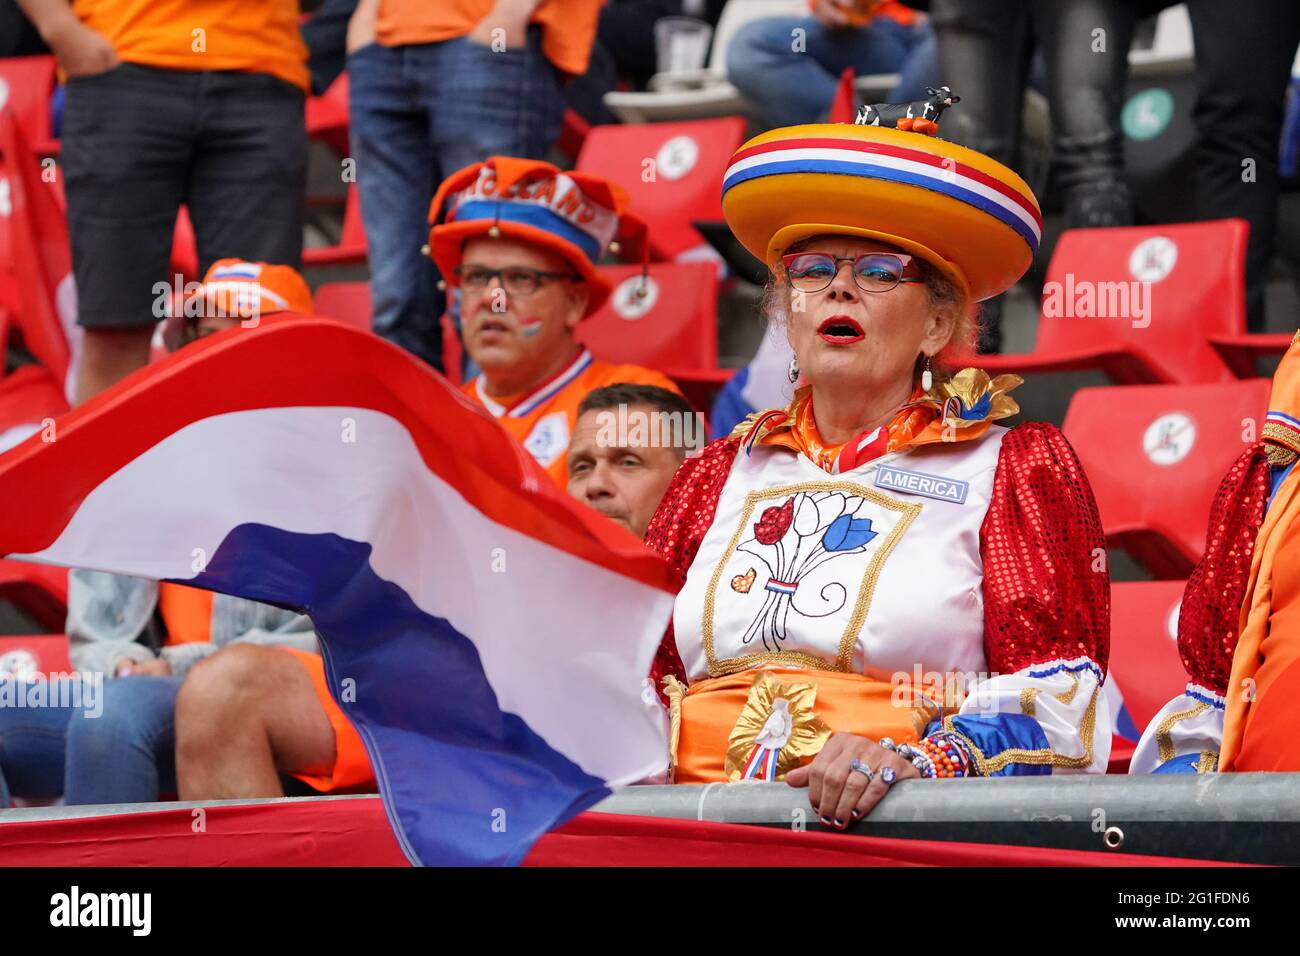
[[[43,806],[0,810],[0,825],[304,799]],[[823,829],[806,790],[784,783],[628,787],[599,813]],[[1005,777],[902,780],[853,834],[1300,864],[1300,774]]]

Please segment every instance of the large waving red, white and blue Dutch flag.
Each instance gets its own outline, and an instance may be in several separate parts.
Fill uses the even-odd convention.
[[[399,349],[269,319],[57,427],[0,458],[0,553],[311,614],[412,861],[519,862],[664,767],[666,566]]]

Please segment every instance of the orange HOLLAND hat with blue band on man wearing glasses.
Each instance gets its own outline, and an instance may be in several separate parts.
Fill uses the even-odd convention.
[[[590,289],[590,315],[610,294],[597,263],[628,226],[623,189],[538,160],[491,156],[452,173],[429,209],[429,254],[455,285],[467,241],[510,237],[558,254]]]

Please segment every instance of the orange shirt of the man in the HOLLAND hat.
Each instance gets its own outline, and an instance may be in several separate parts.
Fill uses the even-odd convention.
[[[462,390],[482,405],[502,427],[537,459],[562,489],[568,486],[568,444],[577,424],[577,407],[593,389],[616,382],[658,385],[681,394],[666,375],[641,365],[597,362],[584,349],[559,375],[526,395],[494,399],[482,388],[482,376],[471,378]]]

